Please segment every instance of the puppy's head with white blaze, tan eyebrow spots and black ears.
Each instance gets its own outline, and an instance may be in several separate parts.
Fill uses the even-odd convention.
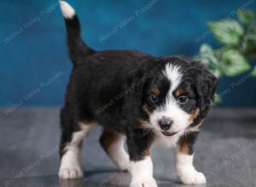
[[[198,62],[160,59],[143,87],[148,124],[164,136],[197,127],[207,115],[217,78]]]

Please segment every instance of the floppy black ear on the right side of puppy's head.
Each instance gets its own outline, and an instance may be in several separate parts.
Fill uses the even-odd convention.
[[[195,123],[199,123],[207,116],[207,111],[209,111],[214,101],[214,94],[218,87],[218,78],[208,71],[205,65],[202,65],[200,62],[191,62],[189,73],[192,74],[191,76],[195,81],[195,91],[200,110],[200,114],[195,120]]]

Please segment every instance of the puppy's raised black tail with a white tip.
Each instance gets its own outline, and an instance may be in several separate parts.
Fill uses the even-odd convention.
[[[67,28],[67,46],[69,57],[76,65],[79,63],[77,59],[94,53],[94,50],[88,47],[82,40],[79,18],[73,7],[65,1],[60,1],[61,12]]]

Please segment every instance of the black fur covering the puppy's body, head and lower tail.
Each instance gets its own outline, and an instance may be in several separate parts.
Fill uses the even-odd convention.
[[[200,109],[191,125],[206,117],[217,79],[200,63],[177,56],[156,58],[138,51],[96,52],[82,41],[76,15],[66,20],[66,25],[73,70],[61,110],[61,152],[73,132],[79,130],[79,122],[85,120],[96,121],[108,131],[125,133],[131,160],[143,159],[154,140],[154,135],[142,127],[141,121],[148,121],[143,106],[150,111],[164,102],[171,83],[161,74],[166,63],[176,64],[183,71],[181,87],[190,103],[181,108],[188,113]],[[159,103],[148,101],[152,84],[160,88]],[[188,141],[192,147],[194,141]]]

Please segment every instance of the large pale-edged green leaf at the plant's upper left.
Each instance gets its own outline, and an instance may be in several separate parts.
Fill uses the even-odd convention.
[[[224,44],[237,44],[244,33],[236,20],[210,21],[207,25],[218,41]]]

